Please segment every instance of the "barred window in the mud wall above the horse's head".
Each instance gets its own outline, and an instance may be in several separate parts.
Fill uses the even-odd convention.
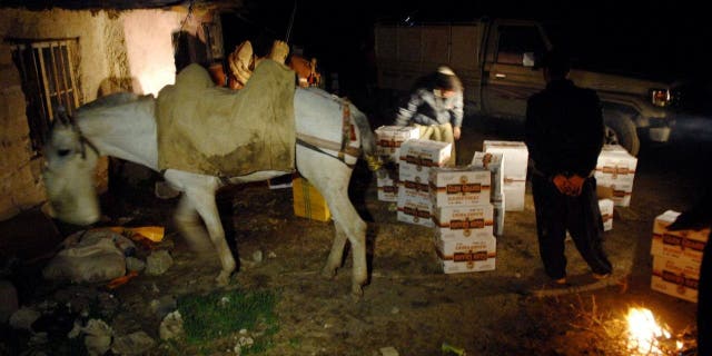
[[[20,71],[34,154],[44,146],[59,106],[72,115],[80,105],[75,71],[78,39],[11,40],[12,59]]]

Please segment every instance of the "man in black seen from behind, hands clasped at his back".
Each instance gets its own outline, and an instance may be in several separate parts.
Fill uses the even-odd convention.
[[[593,171],[603,147],[601,102],[595,91],[576,87],[568,58],[558,50],[542,62],[546,88],[526,108],[526,146],[534,161],[532,192],[544,270],[566,285],[564,239],[571,233],[576,249],[595,279],[611,275],[603,250],[603,220]]]

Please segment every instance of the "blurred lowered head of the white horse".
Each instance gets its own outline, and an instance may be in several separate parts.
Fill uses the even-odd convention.
[[[63,110],[58,110],[44,146],[42,172],[47,196],[56,218],[76,225],[99,219],[93,177],[98,152]]]

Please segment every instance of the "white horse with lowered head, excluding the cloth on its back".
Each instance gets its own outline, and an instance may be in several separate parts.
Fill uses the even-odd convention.
[[[76,118],[60,112],[46,146],[43,169],[48,198],[57,218],[76,225],[89,225],[99,219],[99,204],[93,189],[99,156],[120,158],[158,171],[156,101],[152,96],[116,93],[80,107]],[[348,110],[343,106],[348,106]],[[362,156],[369,161],[369,168],[376,170],[378,159],[374,155],[373,131],[366,116],[354,105],[337,100],[319,89],[297,88],[294,108],[297,170],[322,192],[334,219],[334,244],[322,273],[326,277],[335,276],[348,239],[353,251],[352,293],[360,296],[368,273],[366,222],[348,198],[353,171],[353,166],[348,165],[349,157],[345,159],[334,148],[323,148],[299,138],[313,137],[317,142],[342,138],[344,112],[347,112],[355,126]],[[357,157],[350,159],[355,164]],[[162,174],[166,181],[182,194],[175,212],[178,230],[197,253],[217,250],[221,270],[216,281],[227,285],[236,264],[220,224],[216,190],[226,184],[266,180],[289,172],[255,171],[231,178],[176,169],[167,169]]]

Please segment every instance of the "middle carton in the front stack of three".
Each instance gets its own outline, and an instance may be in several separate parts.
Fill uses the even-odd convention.
[[[464,239],[494,234],[494,207],[490,202],[478,206],[436,207],[433,210],[436,238]]]

